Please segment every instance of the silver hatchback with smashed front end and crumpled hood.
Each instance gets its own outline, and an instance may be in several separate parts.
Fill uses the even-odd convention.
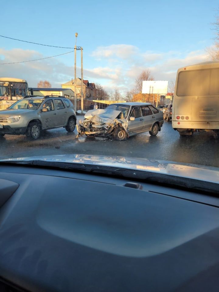
[[[164,123],[163,113],[150,103],[113,103],[106,109],[93,109],[77,125],[77,138],[86,136],[126,140],[135,134],[158,134]]]

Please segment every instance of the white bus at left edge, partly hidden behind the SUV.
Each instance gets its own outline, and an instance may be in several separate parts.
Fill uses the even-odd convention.
[[[0,110],[26,95],[30,95],[26,80],[0,77]]]

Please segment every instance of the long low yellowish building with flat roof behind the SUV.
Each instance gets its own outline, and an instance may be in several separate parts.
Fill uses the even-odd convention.
[[[46,95],[59,95],[69,99],[75,99],[75,93],[67,88],[33,88],[33,95],[46,96]]]

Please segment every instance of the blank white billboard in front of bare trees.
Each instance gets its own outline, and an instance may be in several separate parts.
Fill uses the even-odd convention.
[[[168,89],[168,81],[143,81],[142,93],[152,93],[166,95]]]

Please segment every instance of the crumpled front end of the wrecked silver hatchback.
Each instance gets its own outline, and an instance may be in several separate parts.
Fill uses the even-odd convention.
[[[86,136],[108,137],[118,126],[122,126],[123,113],[116,110],[105,109],[90,110],[85,114],[85,119],[77,125],[77,138]]]

